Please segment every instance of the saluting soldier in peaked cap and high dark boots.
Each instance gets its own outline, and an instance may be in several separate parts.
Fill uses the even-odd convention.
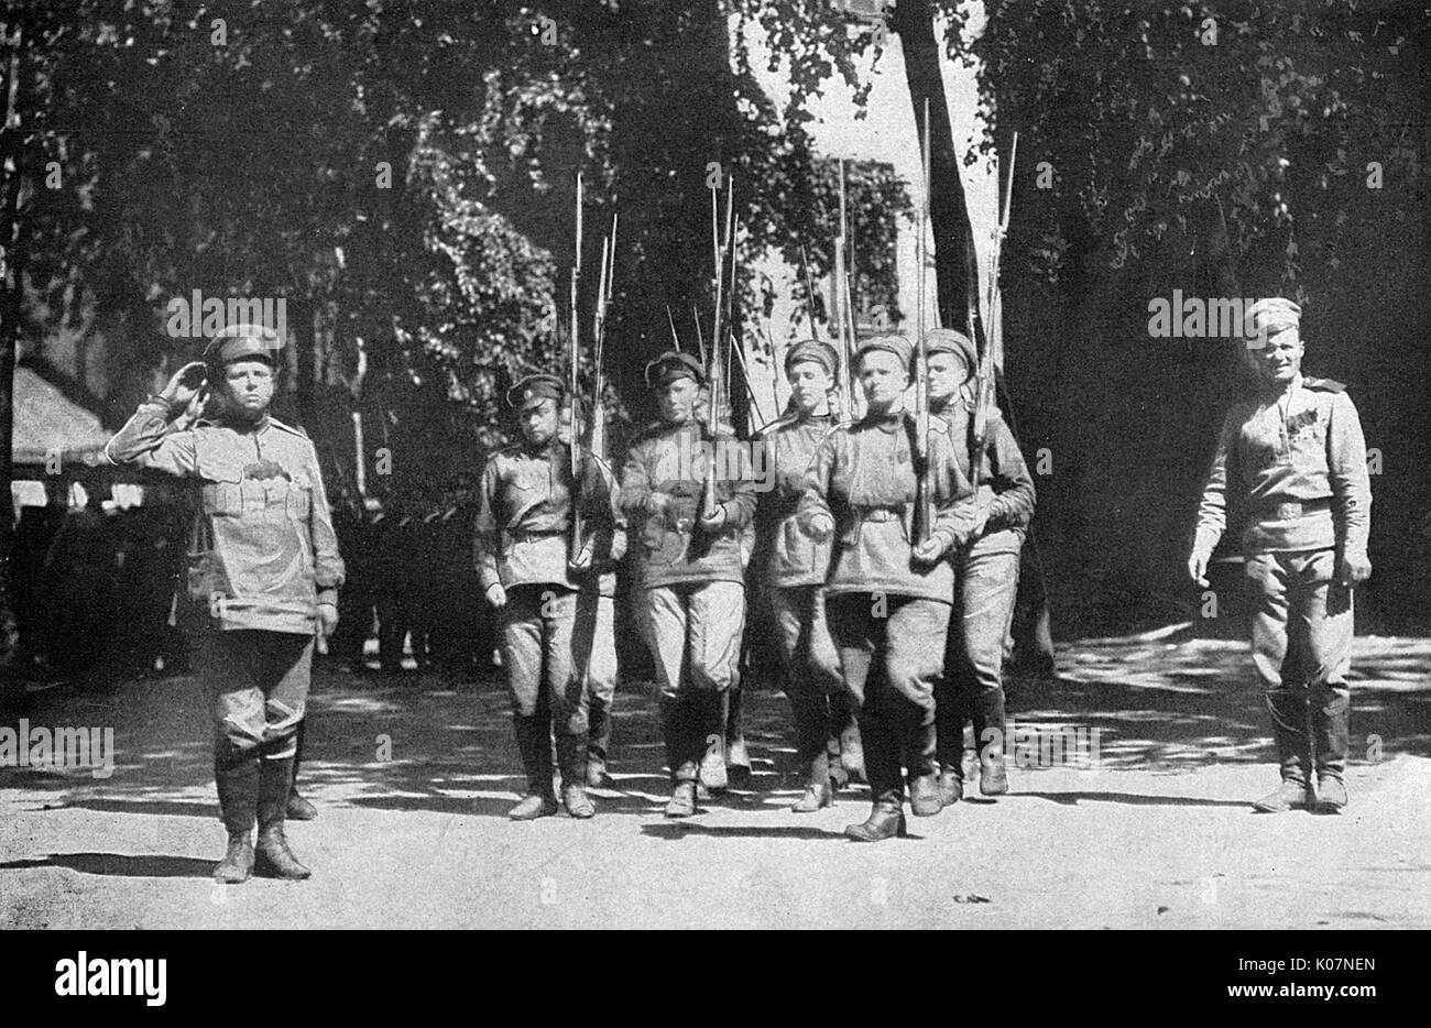
[[[318,454],[308,435],[269,417],[282,341],[263,325],[232,325],[143,404],[109,441],[114,462],[196,480],[189,594],[209,611],[199,674],[213,697],[215,777],[229,849],[215,871],[308,878],[283,838],[295,733],[308,704],[315,626],[338,626],[338,556]],[[170,424],[215,384],[218,417]],[[252,843],[259,825],[258,859]]]

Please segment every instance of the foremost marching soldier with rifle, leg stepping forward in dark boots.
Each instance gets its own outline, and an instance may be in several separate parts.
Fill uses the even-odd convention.
[[[973,490],[944,432],[929,434],[936,504],[929,540],[916,543],[920,450],[904,409],[913,346],[899,335],[867,339],[856,352],[866,415],[820,444],[804,481],[798,524],[816,541],[839,535],[826,581],[826,610],[856,703],[864,770],[874,805],[844,833],[877,842],[904,833],[904,780],[916,816],[939,813],[934,763],[934,682],[943,663],[954,591],[944,560],[973,531]],[[934,644],[933,640],[940,640]]]

